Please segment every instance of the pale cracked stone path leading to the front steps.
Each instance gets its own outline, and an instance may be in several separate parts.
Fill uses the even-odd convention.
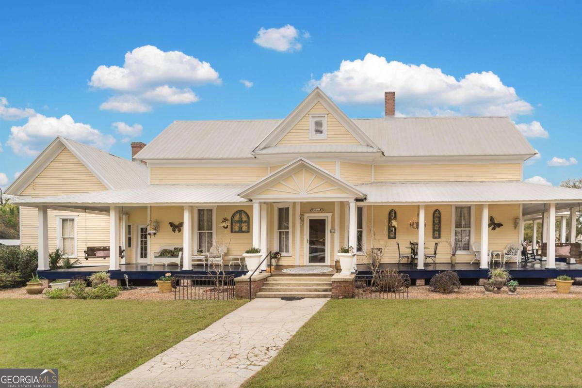
[[[115,380],[108,388],[239,387],[267,365],[327,301],[254,299]]]

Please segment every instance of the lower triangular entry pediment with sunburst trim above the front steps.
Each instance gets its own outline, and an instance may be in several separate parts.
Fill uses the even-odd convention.
[[[364,193],[299,158],[239,194],[252,200],[363,199]]]

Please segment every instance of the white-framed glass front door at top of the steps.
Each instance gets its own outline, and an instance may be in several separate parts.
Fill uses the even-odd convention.
[[[306,265],[329,264],[329,218],[307,216],[305,228]]]

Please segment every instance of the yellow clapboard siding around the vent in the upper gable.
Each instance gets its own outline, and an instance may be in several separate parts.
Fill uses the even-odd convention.
[[[309,138],[309,115],[311,113],[327,113],[327,139]],[[296,144],[360,144],[356,138],[320,102],[316,103],[311,110],[294,125],[278,145]]]

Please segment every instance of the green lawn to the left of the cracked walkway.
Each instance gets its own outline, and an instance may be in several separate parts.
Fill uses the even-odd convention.
[[[0,368],[103,387],[245,301],[0,300]]]

